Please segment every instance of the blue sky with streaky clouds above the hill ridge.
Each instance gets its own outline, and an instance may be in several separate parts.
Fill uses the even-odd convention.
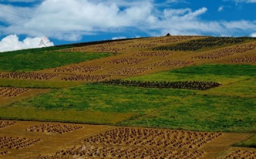
[[[60,45],[168,32],[255,36],[255,15],[256,0],[0,0],[0,40],[16,35],[21,45],[46,36]]]

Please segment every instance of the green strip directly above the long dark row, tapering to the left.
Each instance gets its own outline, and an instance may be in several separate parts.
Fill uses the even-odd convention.
[[[255,77],[255,65],[204,64],[164,71],[146,76],[131,77],[136,81],[218,81],[229,83]],[[238,79],[237,79],[238,78]],[[236,80],[237,79],[237,80]],[[228,82],[225,82],[228,81]]]

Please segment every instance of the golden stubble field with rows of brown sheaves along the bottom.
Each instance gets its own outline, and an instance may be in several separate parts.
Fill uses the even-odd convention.
[[[0,152],[7,152],[0,158],[221,158],[244,152],[255,157],[255,149],[231,147],[249,133],[6,120],[0,127]]]

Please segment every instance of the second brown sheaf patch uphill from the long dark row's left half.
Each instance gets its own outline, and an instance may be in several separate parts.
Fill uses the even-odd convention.
[[[109,64],[141,64],[144,61],[150,60],[150,58],[134,58],[134,57],[126,57],[126,58],[117,58],[110,61],[106,61],[104,63]]]

